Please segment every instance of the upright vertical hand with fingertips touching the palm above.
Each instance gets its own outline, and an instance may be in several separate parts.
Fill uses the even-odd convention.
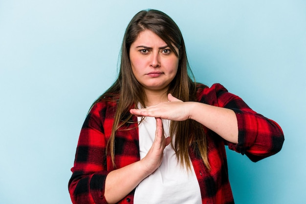
[[[145,167],[148,175],[152,174],[161,164],[163,151],[171,143],[171,137],[165,138],[163,123],[160,118],[156,119],[156,131],[154,142],[147,155],[140,161]]]

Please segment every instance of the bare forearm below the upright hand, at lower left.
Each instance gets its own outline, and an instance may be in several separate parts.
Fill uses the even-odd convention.
[[[105,199],[109,204],[119,202],[147,176],[142,161],[109,172],[105,181]]]

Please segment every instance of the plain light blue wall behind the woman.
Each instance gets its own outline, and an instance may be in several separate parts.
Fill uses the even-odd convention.
[[[258,163],[227,151],[236,203],[305,202],[306,1],[0,0],[0,203],[71,203],[80,128],[147,8],[178,24],[197,81],[223,84],[284,130],[282,151]]]

